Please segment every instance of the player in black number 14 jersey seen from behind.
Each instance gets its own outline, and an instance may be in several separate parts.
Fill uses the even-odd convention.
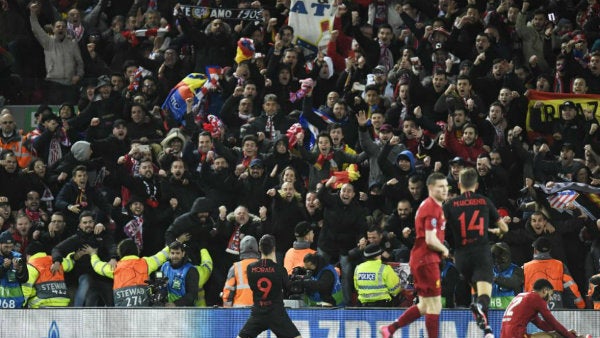
[[[477,180],[475,169],[463,169],[458,177],[461,194],[446,202],[443,209],[446,227],[453,239],[456,268],[477,291],[477,300],[471,304],[471,311],[486,337],[493,337],[487,322],[494,277],[487,233],[491,222],[498,226],[498,229],[491,230],[497,234],[507,232],[508,226],[498,215],[492,201],[475,193]]]

